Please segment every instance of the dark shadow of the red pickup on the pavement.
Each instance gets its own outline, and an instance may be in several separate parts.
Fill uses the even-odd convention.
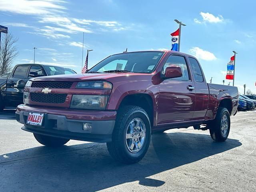
[[[213,142],[204,134],[156,134],[152,135],[146,156],[132,165],[115,162],[105,144],[86,143],[58,149],[40,146],[0,156],[1,188],[5,192],[89,192],[134,181],[144,186],[161,186],[164,181],[148,177],[241,145],[235,139]]]

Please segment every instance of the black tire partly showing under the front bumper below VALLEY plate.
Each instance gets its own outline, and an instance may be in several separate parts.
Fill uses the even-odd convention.
[[[45,145],[47,147],[61,147],[69,141],[69,139],[51,137],[36,133],[34,133],[34,137],[40,144]]]

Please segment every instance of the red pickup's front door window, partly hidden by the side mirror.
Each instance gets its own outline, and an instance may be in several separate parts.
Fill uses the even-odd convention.
[[[182,76],[177,77],[177,78],[171,78],[170,80],[179,80],[179,81],[188,81],[189,80],[188,65],[183,56],[178,56],[178,55],[169,56],[169,58],[166,60],[166,62],[164,64],[162,73],[164,74],[166,68],[170,67],[170,66],[180,66],[182,68]]]

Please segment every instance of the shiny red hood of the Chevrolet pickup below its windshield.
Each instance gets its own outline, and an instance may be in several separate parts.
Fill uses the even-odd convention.
[[[110,80],[112,78],[120,78],[122,76],[144,76],[148,74],[142,73],[85,73],[85,74],[65,74],[36,77],[32,81],[91,81],[91,80]]]

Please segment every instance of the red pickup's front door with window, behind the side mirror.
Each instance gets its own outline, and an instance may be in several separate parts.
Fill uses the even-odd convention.
[[[178,65],[183,70],[182,77],[166,79],[159,84],[158,124],[192,120],[195,109],[195,86],[192,81],[187,58],[180,54],[171,54],[166,67]]]

